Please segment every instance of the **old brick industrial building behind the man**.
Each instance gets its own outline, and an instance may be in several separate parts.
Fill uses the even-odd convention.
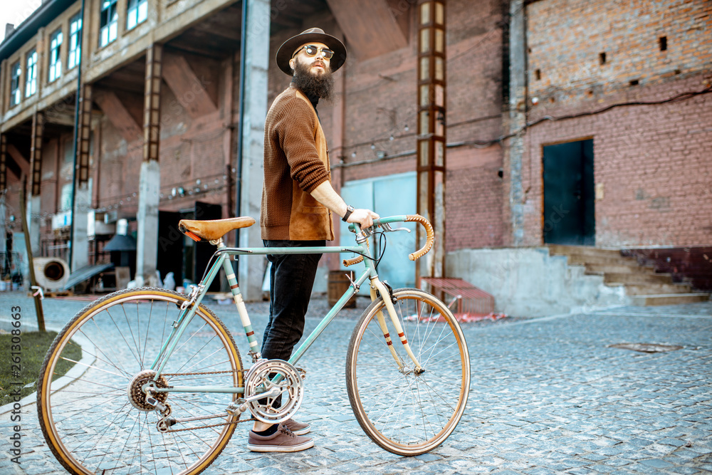
[[[16,250],[26,219],[33,254],[75,271],[127,219],[131,278],[200,278],[211,246],[177,221],[258,219],[263,120],[289,82],[273,56],[312,26],[350,54],[318,105],[335,188],[434,221],[419,273],[511,314],[707,297],[706,0],[46,0],[0,43],[0,231]],[[261,246],[259,226],[229,241]],[[389,243],[382,273],[413,286],[416,237]],[[240,261],[246,298],[264,268]]]

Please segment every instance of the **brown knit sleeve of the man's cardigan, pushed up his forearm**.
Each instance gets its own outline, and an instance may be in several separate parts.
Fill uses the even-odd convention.
[[[299,98],[289,98],[277,114],[273,128],[287,157],[290,177],[306,193],[329,179],[316,150],[314,116],[310,105]]]

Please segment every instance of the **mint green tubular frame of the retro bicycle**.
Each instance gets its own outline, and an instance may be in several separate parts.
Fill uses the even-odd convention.
[[[381,219],[376,219],[374,220],[374,226],[380,225],[380,224],[389,224],[389,223],[394,223],[394,222],[400,222],[400,221],[406,221],[407,216],[402,215],[402,216],[389,216],[387,218],[381,218]],[[191,322],[193,316],[195,315],[198,306],[200,305],[201,301],[203,300],[203,297],[205,296],[207,289],[209,288],[210,284],[212,283],[213,279],[218,275],[219,271],[221,268],[224,269],[225,274],[227,276],[228,282],[230,284],[231,292],[233,299],[235,301],[235,304],[237,306],[238,313],[240,315],[241,323],[243,325],[243,328],[245,330],[245,333],[247,335],[247,340],[250,346],[250,352],[251,354],[256,353],[256,348],[258,346],[258,341],[257,338],[255,337],[254,330],[252,328],[252,324],[250,322],[250,319],[247,315],[247,310],[245,306],[245,302],[242,298],[242,294],[240,293],[240,288],[237,283],[237,279],[235,277],[234,270],[231,266],[230,263],[230,258],[231,256],[248,256],[248,255],[266,255],[266,254],[337,254],[337,253],[342,253],[342,252],[352,252],[355,254],[360,254],[362,256],[365,256],[363,259],[363,263],[365,264],[365,270],[358,276],[354,282],[356,288],[354,288],[354,285],[352,284],[347,288],[346,292],[341,296],[339,301],[335,303],[335,305],[329,310],[329,312],[325,315],[325,317],[321,320],[321,322],[317,325],[317,327],[310,333],[310,335],[307,337],[304,343],[300,345],[300,347],[296,350],[296,352],[290,357],[289,363],[291,365],[295,365],[298,360],[304,355],[306,350],[314,343],[314,341],[321,335],[321,333],[325,330],[325,328],[332,322],[332,320],[335,318],[336,314],[339,313],[339,311],[346,305],[347,301],[357,292],[357,288],[362,285],[366,281],[367,278],[370,278],[371,282],[375,285],[377,290],[381,293],[381,295],[387,295],[387,290],[385,286],[378,280],[378,275],[376,273],[376,268],[369,259],[370,257],[370,251],[367,246],[367,239],[363,239],[362,244],[357,244],[356,246],[318,246],[318,247],[298,247],[298,248],[293,248],[293,247],[271,247],[271,248],[229,248],[226,247],[222,240],[219,239],[217,241],[211,241],[212,244],[216,244],[218,246],[218,250],[215,252],[214,257],[216,257],[216,261],[210,266],[210,269],[207,273],[207,275],[201,280],[201,282],[198,284],[198,291],[197,294],[192,293],[191,294],[191,301],[192,305],[185,306],[185,308],[181,309],[181,313],[179,314],[179,317],[177,320],[173,323],[173,329],[171,330],[170,335],[168,336],[167,340],[163,343],[163,346],[161,350],[159,351],[158,356],[156,357],[155,361],[151,365],[150,369],[156,371],[155,375],[155,380],[160,377],[162,374],[164,367],[166,365],[166,362],[169,360],[170,355],[172,355],[178,341],[182,337],[185,329]],[[372,296],[373,298],[373,296]],[[194,300],[193,300],[194,299]],[[386,305],[389,308],[389,314],[391,315],[391,318],[393,320],[394,325],[396,325],[396,328],[398,329],[400,327],[399,323],[397,322],[397,318],[395,316],[395,313],[391,313],[392,309],[392,303],[389,301],[389,299],[384,299],[386,301]],[[407,353],[415,363],[416,367],[420,367],[419,363],[417,362],[416,358],[414,355],[412,355],[409,346],[407,345],[407,342],[404,343],[404,346],[406,347]],[[396,355],[394,355],[394,358]],[[396,360],[396,362],[399,364],[399,366],[402,366],[402,362],[399,360]],[[219,392],[219,393],[234,393],[234,394],[243,394],[245,392],[244,387],[224,387],[224,386],[176,386],[176,387],[166,387],[166,388],[161,388],[161,387],[154,387],[152,388],[153,391],[155,392]]]

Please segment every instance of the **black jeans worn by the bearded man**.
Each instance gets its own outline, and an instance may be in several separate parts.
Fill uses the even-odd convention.
[[[265,247],[315,247],[326,241],[263,241]],[[304,315],[321,254],[267,254],[270,271],[269,321],[262,339],[262,357],[289,360],[304,333]]]

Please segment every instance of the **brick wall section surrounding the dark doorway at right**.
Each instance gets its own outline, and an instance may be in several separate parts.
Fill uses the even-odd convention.
[[[660,102],[711,85],[708,1],[552,0],[528,8],[529,98],[538,98],[529,122]],[[661,36],[667,51],[659,51]],[[601,65],[603,51],[607,63]],[[629,83],[634,79],[638,85]],[[543,146],[590,137],[602,191],[595,202],[597,246],[712,242],[711,123],[707,93],[530,127],[522,169],[522,187],[530,189],[525,245],[542,243]]]

